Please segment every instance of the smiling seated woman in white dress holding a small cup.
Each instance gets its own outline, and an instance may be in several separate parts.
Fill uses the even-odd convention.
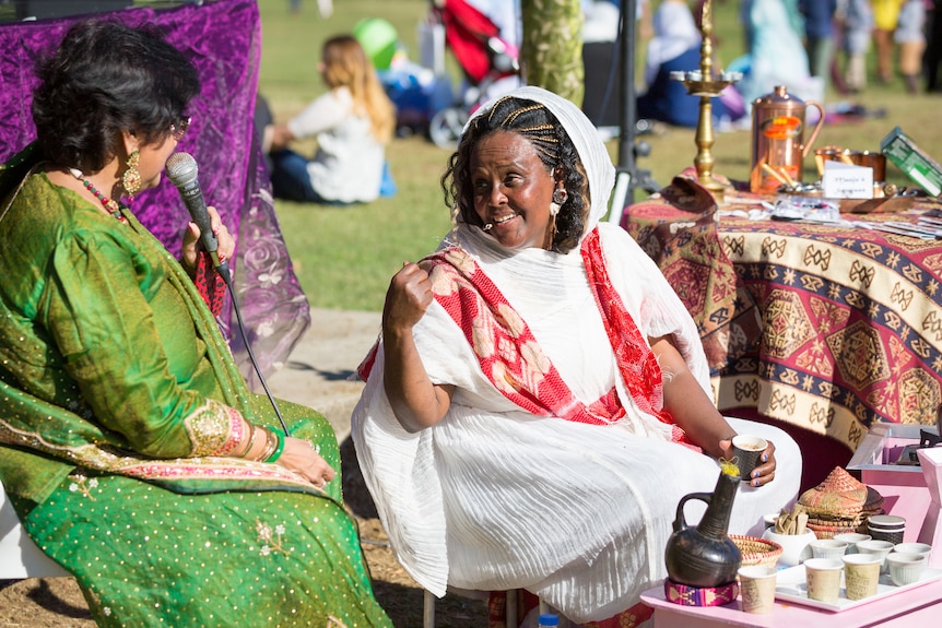
[[[451,156],[454,230],[392,279],[353,438],[397,557],[437,595],[526,589],[572,620],[629,626],[666,576],[679,500],[714,488],[734,434],[775,445],[731,532],[797,496],[794,442],[719,414],[690,315],[599,223],[613,180],[575,105],[516,90]]]

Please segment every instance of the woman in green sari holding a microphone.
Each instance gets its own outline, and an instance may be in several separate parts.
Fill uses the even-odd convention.
[[[123,202],[186,132],[193,67],[85,22],[39,79],[37,140],[0,173],[0,481],[24,529],[99,626],[391,626],[329,424],[282,402],[282,433],[193,283],[199,229],[177,261]]]

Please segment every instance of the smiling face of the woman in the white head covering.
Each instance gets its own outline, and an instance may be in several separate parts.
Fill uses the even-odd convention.
[[[508,249],[549,248],[555,181],[529,140],[495,131],[471,152],[470,166],[474,212],[485,230]]]

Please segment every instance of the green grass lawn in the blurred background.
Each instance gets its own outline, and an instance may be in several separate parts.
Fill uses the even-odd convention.
[[[314,0],[303,2],[298,14],[289,12],[287,0],[259,0],[262,15],[262,63],[260,91],[268,97],[276,121],[284,121],[323,92],[316,66],[322,42],[350,32],[362,19],[389,20],[398,29],[409,57],[417,60],[416,27],[427,14],[428,0],[334,0],[329,19],[317,14]],[[739,3],[715,1],[718,66],[742,54],[742,34],[737,19]],[[644,43],[638,44],[638,62]],[[452,67],[454,68],[454,67]],[[942,158],[942,126],[937,122],[940,95],[909,95],[902,80],[888,85],[871,84],[848,98],[829,93],[826,104],[852,100],[870,110],[883,109],[882,118],[860,123],[825,125],[815,145],[837,144],[855,150],[880,149],[880,141],[895,126],[912,137],[927,152]],[[676,173],[693,165],[694,131],[669,128],[662,134],[640,138],[650,145],[650,156],[638,158],[639,168],[667,185]],[[751,131],[717,133],[714,171],[731,179],[747,179]],[[308,150],[308,146],[302,146]],[[617,163],[619,143],[609,142]],[[448,152],[423,138],[397,139],[388,157],[399,192],[392,199],[346,209],[301,205],[279,201],[275,205],[295,270],[315,307],[379,311],[389,277],[403,260],[415,260],[432,251],[450,228],[439,178]],[[812,161],[805,179],[813,178]],[[887,179],[910,185],[893,166]]]

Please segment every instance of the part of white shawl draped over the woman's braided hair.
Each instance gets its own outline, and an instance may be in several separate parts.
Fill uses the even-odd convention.
[[[589,195],[592,203],[589,216],[586,220],[586,230],[582,233],[582,236],[585,236],[608,213],[609,197],[615,182],[615,167],[612,165],[612,158],[609,156],[609,151],[605,149],[605,144],[599,137],[596,127],[576,105],[542,87],[519,87],[501,97],[526,98],[527,100],[540,103],[560,120],[569,139],[573,140],[573,144],[576,146],[576,152],[579,154],[579,159],[581,159],[582,167],[586,168],[586,175],[589,178]],[[474,112],[471,119],[473,120],[478,116],[488,112],[495,102],[492,100],[482,106]],[[468,127],[466,126],[467,129]]]

